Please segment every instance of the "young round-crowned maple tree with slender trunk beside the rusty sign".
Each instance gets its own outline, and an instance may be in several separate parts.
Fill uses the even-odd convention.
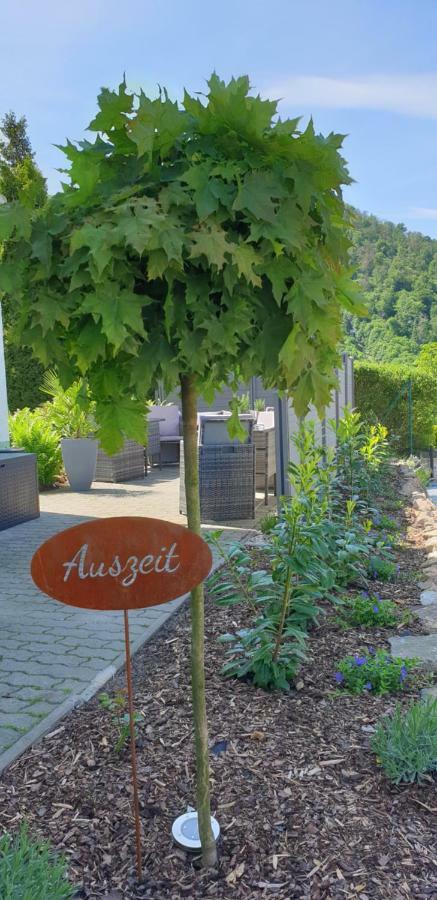
[[[246,77],[213,75],[202,99],[104,88],[94,141],[62,148],[63,191],[42,211],[0,208],[10,250],[0,289],[20,340],[65,385],[86,379],[98,437],[141,441],[144,397],[180,384],[188,525],[200,530],[197,396],[262,375],[299,414],[335,383],[343,309],[342,138],[276,118]],[[232,426],[238,429],[237,408]],[[203,591],[193,591],[192,688],[203,860],[214,864],[203,668]]]

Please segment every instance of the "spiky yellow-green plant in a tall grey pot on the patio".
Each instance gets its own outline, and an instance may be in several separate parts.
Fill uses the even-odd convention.
[[[73,491],[88,491],[94,480],[98,441],[94,437],[93,404],[84,384],[64,388],[54,372],[47,372],[42,390],[51,397],[47,416],[61,443],[65,472]]]

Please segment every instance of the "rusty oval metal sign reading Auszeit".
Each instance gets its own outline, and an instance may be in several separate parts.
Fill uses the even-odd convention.
[[[142,609],[187,593],[209,574],[208,544],[173,522],[95,519],[55,534],[32,558],[41,591],[85,609]]]

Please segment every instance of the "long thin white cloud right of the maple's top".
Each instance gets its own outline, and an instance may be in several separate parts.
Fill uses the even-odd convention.
[[[328,109],[378,109],[437,118],[436,72],[361,78],[292,75],[271,85],[266,93],[294,107],[301,104]]]

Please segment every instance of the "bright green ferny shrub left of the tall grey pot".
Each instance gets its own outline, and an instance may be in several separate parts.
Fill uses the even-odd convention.
[[[41,408],[17,410],[9,418],[9,430],[13,447],[36,453],[40,487],[51,487],[62,471],[62,458],[58,438],[44,411]]]

